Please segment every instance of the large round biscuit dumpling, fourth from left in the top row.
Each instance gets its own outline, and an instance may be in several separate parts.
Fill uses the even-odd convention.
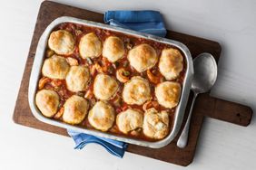
[[[153,68],[158,58],[153,47],[143,43],[128,53],[128,60],[136,71],[143,72]]]

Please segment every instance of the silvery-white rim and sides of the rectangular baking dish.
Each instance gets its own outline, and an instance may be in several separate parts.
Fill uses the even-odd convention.
[[[85,129],[83,127],[76,127],[73,125],[68,125],[68,124],[65,124],[64,122],[60,122],[60,121],[57,121],[57,120],[54,120],[51,118],[45,118],[40,113],[40,111],[37,109],[37,107],[35,105],[34,98],[35,98],[35,94],[36,94],[36,90],[37,90],[37,82],[40,78],[41,68],[42,68],[42,65],[44,62],[44,51],[47,46],[48,37],[49,37],[50,33],[53,31],[54,27],[58,24],[63,24],[63,23],[84,24],[86,26],[98,27],[101,29],[110,30],[110,31],[117,32],[117,33],[125,33],[128,35],[141,37],[143,39],[148,39],[148,40],[152,40],[155,42],[162,42],[162,43],[170,44],[170,45],[178,48],[183,53],[187,68],[186,68],[186,72],[185,72],[185,76],[184,76],[184,80],[183,80],[183,84],[182,84],[181,99],[180,99],[178,106],[175,109],[175,112],[174,112],[172,130],[167,137],[163,138],[162,140],[153,141],[153,142],[145,141],[145,140],[141,140],[141,139],[134,139],[134,138],[130,138],[130,137],[121,137],[121,136],[116,136],[113,134],[107,134],[107,133],[104,133],[104,132],[101,132],[98,130],[94,130],[94,129]],[[51,124],[51,125],[54,125],[57,127],[73,129],[76,131],[81,131],[86,134],[90,134],[90,135],[94,135],[94,136],[116,139],[119,141],[134,144],[134,145],[159,148],[159,147],[168,145],[180,130],[180,127],[182,125],[184,111],[186,109],[187,100],[188,100],[188,97],[190,94],[190,89],[191,89],[191,84],[192,84],[192,76],[193,76],[193,65],[192,65],[191,53],[189,52],[188,48],[181,42],[176,42],[176,41],[172,41],[169,39],[153,36],[153,35],[147,34],[147,33],[138,33],[138,32],[134,32],[132,30],[127,30],[127,29],[123,29],[123,28],[119,28],[119,27],[113,27],[113,26],[110,26],[107,24],[99,24],[99,23],[94,23],[91,21],[85,21],[85,20],[81,20],[81,19],[77,19],[77,18],[73,18],[73,17],[63,16],[63,17],[59,17],[59,18],[55,19],[51,24],[49,24],[47,26],[47,28],[45,29],[44,33],[42,34],[42,36],[37,44],[37,49],[36,49],[36,53],[34,56],[34,64],[33,64],[31,77],[30,77],[30,81],[29,81],[29,90],[28,90],[29,105],[30,105],[30,108],[32,110],[34,117],[39,119],[40,121],[43,121],[44,123],[47,123],[47,124]]]

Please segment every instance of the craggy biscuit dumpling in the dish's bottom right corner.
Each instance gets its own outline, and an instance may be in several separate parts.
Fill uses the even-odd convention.
[[[143,134],[154,139],[162,139],[169,132],[169,116],[166,111],[148,109],[144,113]]]

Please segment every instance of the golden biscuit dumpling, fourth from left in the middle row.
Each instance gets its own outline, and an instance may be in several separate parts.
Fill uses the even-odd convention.
[[[135,76],[124,84],[123,100],[130,105],[142,105],[151,99],[151,90],[148,80]]]

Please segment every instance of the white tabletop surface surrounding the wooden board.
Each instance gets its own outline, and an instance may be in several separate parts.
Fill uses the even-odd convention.
[[[126,153],[123,159],[103,147],[73,149],[68,137],[15,125],[12,115],[41,0],[8,0],[0,10],[0,169],[183,169]],[[213,96],[238,101],[256,111],[256,1],[253,0],[80,0],[62,1],[96,12],[153,9],[168,29],[222,44]],[[172,154],[172,153],[170,153]],[[256,169],[256,125],[239,127],[207,118],[192,165],[187,169]]]

